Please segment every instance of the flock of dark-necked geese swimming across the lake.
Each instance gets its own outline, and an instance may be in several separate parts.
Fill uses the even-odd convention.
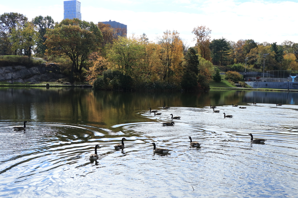
[[[257,104],[257,103],[252,103],[252,104]],[[281,106],[282,104],[277,104],[276,103],[276,106]],[[232,104],[232,106],[233,107],[238,107],[238,105],[234,105],[234,104]],[[163,108],[164,109],[169,109],[170,107],[164,107],[164,105],[163,105]],[[211,109],[213,109],[213,112],[214,113],[219,113],[220,112],[220,110],[214,110],[216,107],[215,106],[212,106],[211,104],[210,104],[210,108]],[[245,109],[246,107],[239,107],[240,109]],[[158,110],[151,110],[151,108],[149,108],[150,109],[150,113],[154,113],[154,115],[161,115],[162,113],[156,113]],[[224,118],[232,118],[233,116],[232,115],[226,115],[226,113],[223,113],[224,114]],[[170,114],[172,117],[171,117],[171,119],[180,119],[181,117],[180,116],[173,116],[173,114]],[[26,123],[27,123],[27,121],[24,121],[24,126],[13,126],[13,129],[14,130],[17,130],[17,131],[26,131]],[[175,125],[175,123],[174,122],[163,122],[162,123],[162,125],[163,126],[174,126]],[[252,134],[250,133],[249,134],[250,136],[251,136],[251,139],[250,139],[250,142],[251,143],[256,143],[256,144],[260,144],[260,143],[263,143],[263,142],[265,142],[266,140],[264,140],[264,139],[259,139],[259,138],[257,138],[257,139],[253,139],[253,136],[252,136]],[[188,136],[188,138],[190,139],[190,146],[192,146],[192,147],[200,147],[200,143],[199,142],[197,142],[197,141],[193,141],[192,139],[191,139],[191,137],[190,136]],[[124,146],[124,140],[126,140],[124,137],[122,138],[122,140],[121,140],[121,144],[117,144],[117,145],[115,145],[114,146],[114,148],[115,148],[115,150],[122,150],[123,151],[123,149],[125,148],[125,146]],[[154,153],[159,153],[159,154],[166,154],[166,153],[168,153],[169,151],[171,151],[171,150],[169,150],[169,149],[166,149],[166,148],[156,148],[156,145],[155,145],[155,143],[153,142],[153,143],[151,143],[152,145],[153,145],[153,152]],[[95,145],[95,152],[94,152],[94,154],[91,154],[90,156],[89,156],[89,159],[92,161],[92,160],[97,160],[97,159],[99,159],[99,156],[97,155],[97,148],[99,148],[99,145]]]

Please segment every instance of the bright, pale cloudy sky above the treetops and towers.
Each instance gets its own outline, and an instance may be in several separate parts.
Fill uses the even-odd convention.
[[[211,29],[211,39],[254,39],[281,44],[298,42],[298,0],[79,0],[82,20],[117,21],[127,25],[128,36],[145,33],[151,41],[166,30],[180,33],[195,45],[193,28]],[[30,3],[28,3],[30,2]],[[0,14],[18,12],[29,20],[38,15],[63,20],[63,1],[0,0]]]

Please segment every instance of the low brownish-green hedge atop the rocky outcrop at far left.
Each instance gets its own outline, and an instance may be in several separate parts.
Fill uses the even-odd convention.
[[[37,66],[44,63],[44,60],[41,59],[32,59],[28,56],[14,56],[14,55],[5,55],[0,56],[0,66],[15,66],[22,65],[26,67]]]

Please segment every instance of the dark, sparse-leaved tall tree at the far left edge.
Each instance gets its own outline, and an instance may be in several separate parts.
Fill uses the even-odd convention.
[[[5,12],[0,15],[0,37],[2,38],[2,45],[5,45],[6,53],[17,55],[17,51],[11,49],[15,42],[11,37],[11,33],[16,27],[24,27],[27,20],[27,17],[15,12]]]

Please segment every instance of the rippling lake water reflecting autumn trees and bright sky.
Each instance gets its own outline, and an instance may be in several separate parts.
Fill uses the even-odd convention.
[[[0,197],[298,197],[297,92],[1,87],[0,104]]]

